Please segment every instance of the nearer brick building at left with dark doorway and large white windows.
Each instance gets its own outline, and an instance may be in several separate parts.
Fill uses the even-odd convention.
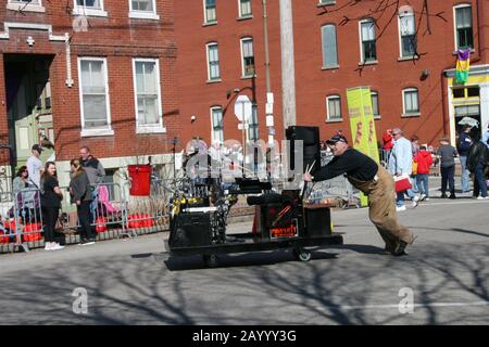
[[[0,141],[13,167],[48,141],[42,158],[55,155],[62,184],[82,145],[114,180],[148,155],[171,165],[173,11],[172,0],[0,1]]]

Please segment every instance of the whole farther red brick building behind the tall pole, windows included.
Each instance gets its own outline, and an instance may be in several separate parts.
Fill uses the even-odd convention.
[[[465,116],[489,121],[487,1],[427,1],[424,8],[423,0],[411,0],[380,12],[379,3],[396,1],[267,2],[277,138],[291,124],[317,125],[323,138],[336,129],[349,136],[346,91],[359,86],[372,90],[377,137],[399,126],[437,146],[442,134],[454,142]],[[262,1],[176,2],[175,28],[181,137],[241,139],[234,116],[239,93],[256,104],[250,128],[266,139]],[[456,51],[467,47],[469,77],[457,85]]]

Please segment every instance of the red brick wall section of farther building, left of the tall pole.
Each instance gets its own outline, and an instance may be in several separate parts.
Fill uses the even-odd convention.
[[[268,35],[271,50],[271,88],[275,95],[275,128],[277,136],[283,129],[281,123],[281,85],[280,85],[280,40],[279,18],[276,1],[268,1]],[[225,139],[241,142],[238,119],[234,115],[235,99],[227,99],[228,90],[247,88],[246,93],[253,100],[251,79],[241,79],[240,39],[253,38],[255,56],[254,98],[259,107],[260,139],[267,140],[265,126],[265,60],[263,41],[262,1],[252,1],[253,18],[238,21],[238,1],[216,1],[217,24],[203,26],[202,1],[175,1],[175,30],[178,46],[177,75],[180,92],[181,138],[184,142],[192,137],[201,137],[211,141],[210,107],[220,105],[227,107],[224,115]],[[208,83],[205,44],[218,43],[221,82]],[[236,97],[236,94],[234,94]],[[195,115],[197,120],[190,121]]]

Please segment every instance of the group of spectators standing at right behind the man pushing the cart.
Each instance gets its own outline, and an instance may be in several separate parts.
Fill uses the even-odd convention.
[[[489,125],[480,140],[471,137],[472,126],[465,125],[457,139],[456,147],[450,144],[447,137],[439,139],[436,152],[427,151],[426,145],[418,144],[418,137],[408,140],[402,129],[388,129],[383,134],[384,157],[388,171],[394,177],[410,177],[411,188],[397,192],[397,210],[405,210],[404,198],[410,197],[412,207],[421,201],[428,201],[429,174],[437,164],[441,176],[441,198],[456,198],[455,194],[455,158],[461,164],[461,192],[473,193],[477,200],[488,200],[489,182]],[[471,190],[471,178],[473,190]]]

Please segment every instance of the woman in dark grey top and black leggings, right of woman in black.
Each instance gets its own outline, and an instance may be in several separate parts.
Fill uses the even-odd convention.
[[[80,224],[80,245],[95,243],[95,235],[90,224],[91,190],[88,176],[82,167],[79,159],[70,162],[72,180],[70,181],[70,196],[72,204],[76,204],[76,213]]]

